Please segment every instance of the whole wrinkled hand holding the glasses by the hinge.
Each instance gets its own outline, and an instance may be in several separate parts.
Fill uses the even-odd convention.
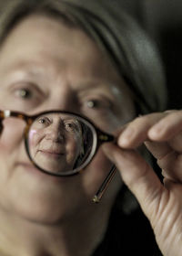
[[[157,158],[164,185],[136,153],[140,144]],[[151,113],[128,123],[117,146],[107,144],[106,155],[116,164],[123,180],[136,195],[154,229],[165,256],[182,254],[182,112]]]

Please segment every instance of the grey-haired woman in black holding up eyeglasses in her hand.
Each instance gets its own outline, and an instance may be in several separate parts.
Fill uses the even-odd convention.
[[[9,0],[0,43],[0,255],[181,255],[182,115],[157,112],[165,81],[144,32],[116,1]],[[85,135],[82,161],[66,172],[57,114]],[[51,127],[54,117],[56,133],[38,137],[49,167],[31,146],[36,121]]]

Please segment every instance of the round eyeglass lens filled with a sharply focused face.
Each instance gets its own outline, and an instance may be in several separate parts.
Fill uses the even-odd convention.
[[[27,136],[32,161],[56,176],[84,168],[96,150],[93,127],[74,114],[47,112],[35,118]]]

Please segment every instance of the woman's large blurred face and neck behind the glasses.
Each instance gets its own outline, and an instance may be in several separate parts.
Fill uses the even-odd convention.
[[[26,17],[0,48],[0,91],[2,110],[76,112],[107,133],[135,116],[126,84],[96,44],[81,30],[45,16]],[[101,203],[91,202],[113,164],[100,148],[81,175],[47,176],[25,154],[25,123],[8,118],[3,124],[0,254],[90,255],[122,185],[117,174]]]

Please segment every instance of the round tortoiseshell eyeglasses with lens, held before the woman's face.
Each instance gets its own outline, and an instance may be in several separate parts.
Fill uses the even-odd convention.
[[[65,111],[40,112],[26,115],[9,110],[0,111],[0,133],[5,118],[25,121],[25,150],[33,165],[51,176],[74,176],[86,168],[98,147],[114,142],[115,137],[104,133],[86,117]],[[115,173],[112,167],[99,188],[94,201],[99,201]]]

